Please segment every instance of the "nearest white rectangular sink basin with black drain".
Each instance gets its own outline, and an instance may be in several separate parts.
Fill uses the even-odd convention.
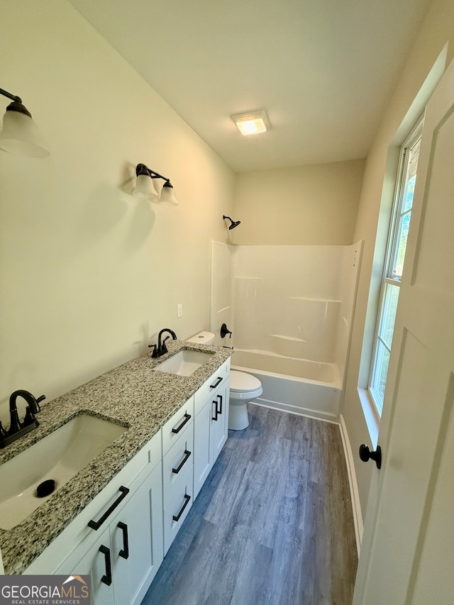
[[[55,493],[127,428],[79,414],[38,443],[0,465],[0,527],[11,529],[52,497],[38,485],[54,479]]]

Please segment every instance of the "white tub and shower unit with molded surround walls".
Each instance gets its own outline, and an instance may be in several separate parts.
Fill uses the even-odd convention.
[[[339,420],[361,253],[212,242],[211,331],[262,383],[258,404]]]

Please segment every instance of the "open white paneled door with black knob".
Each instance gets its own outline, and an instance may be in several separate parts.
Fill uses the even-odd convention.
[[[426,108],[354,605],[454,603],[453,401],[454,62]]]

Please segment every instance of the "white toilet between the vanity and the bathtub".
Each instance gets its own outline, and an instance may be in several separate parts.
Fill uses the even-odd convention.
[[[215,335],[212,332],[199,332],[187,339],[187,343],[212,345]],[[242,431],[249,426],[246,405],[262,394],[262,383],[258,378],[246,372],[230,372],[230,405],[228,411],[228,428]]]

